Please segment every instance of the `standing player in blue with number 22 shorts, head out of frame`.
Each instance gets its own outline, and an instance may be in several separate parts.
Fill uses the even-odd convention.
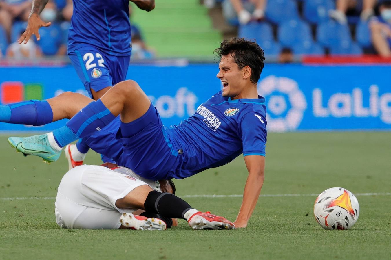
[[[32,0],[27,28],[18,40],[27,43],[38,29],[48,27],[39,18],[48,0]],[[130,0],[140,9],[151,11],[154,0]],[[68,33],[68,56],[90,97],[99,99],[111,86],[126,78],[131,56],[129,0],[73,0],[74,9]],[[89,146],[80,139],[66,147],[69,168],[83,164]],[[111,161],[102,157],[104,162]]]

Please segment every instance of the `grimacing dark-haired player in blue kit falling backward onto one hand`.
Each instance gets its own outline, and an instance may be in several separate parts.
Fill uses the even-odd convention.
[[[26,155],[56,161],[62,147],[115,125],[112,121],[120,115],[115,138],[122,147],[115,161],[152,180],[190,177],[243,153],[249,175],[235,225],[245,227],[264,182],[266,107],[257,92],[264,51],[255,42],[237,38],[223,41],[216,51],[221,57],[217,78],[223,90],[178,126],[163,127],[158,112],[135,81],[118,83],[96,102],[68,94],[42,103],[11,104],[0,108],[0,119],[38,125],[72,117],[53,133],[9,138],[11,145]],[[88,105],[83,108],[83,103]],[[25,113],[27,105],[32,108]]]

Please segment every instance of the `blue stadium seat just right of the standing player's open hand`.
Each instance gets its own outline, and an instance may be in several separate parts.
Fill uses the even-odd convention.
[[[59,47],[63,44],[63,30],[57,24],[52,24],[49,27],[39,28],[41,39],[38,45],[41,47],[44,55],[56,55]]]

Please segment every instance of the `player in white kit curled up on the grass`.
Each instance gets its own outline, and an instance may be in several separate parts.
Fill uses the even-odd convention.
[[[161,189],[172,193],[175,186]],[[57,189],[56,221],[63,228],[165,230],[172,218],[183,218],[193,229],[235,228],[223,217],[199,212],[160,191],[156,182],[124,167],[77,166],[65,173]]]

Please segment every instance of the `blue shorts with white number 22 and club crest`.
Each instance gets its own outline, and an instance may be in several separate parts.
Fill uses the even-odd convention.
[[[124,81],[130,61],[130,56],[110,55],[93,46],[81,47],[68,56],[91,98],[91,89],[98,92]]]

